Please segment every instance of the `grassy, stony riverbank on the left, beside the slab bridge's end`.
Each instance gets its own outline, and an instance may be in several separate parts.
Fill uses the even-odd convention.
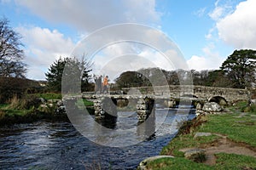
[[[93,103],[82,99],[78,100],[76,105],[91,106]],[[94,112],[91,107],[87,110]],[[9,104],[0,104],[0,126],[41,120],[69,122],[61,94],[29,95],[24,99],[14,98]]]

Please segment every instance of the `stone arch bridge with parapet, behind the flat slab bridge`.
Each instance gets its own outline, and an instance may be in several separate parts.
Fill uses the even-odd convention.
[[[170,98],[179,99],[182,97],[198,98],[205,101],[216,101],[224,99],[227,103],[233,103],[238,100],[250,99],[247,89],[241,88],[217,88],[206,86],[156,86],[142,88],[122,88],[125,94],[135,91],[137,94],[153,94],[155,96],[170,96]]]

